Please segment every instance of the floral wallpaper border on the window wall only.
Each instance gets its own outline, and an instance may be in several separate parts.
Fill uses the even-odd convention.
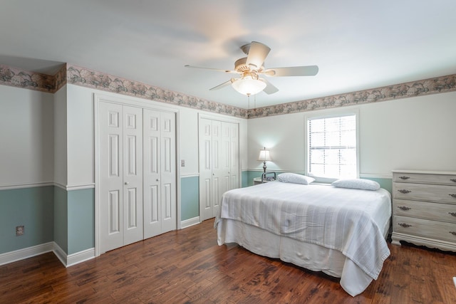
[[[247,118],[284,115],[456,91],[456,74],[248,110]]]

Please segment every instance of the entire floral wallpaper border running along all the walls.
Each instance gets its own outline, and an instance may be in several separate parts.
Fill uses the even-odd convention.
[[[56,75],[0,65],[0,85],[56,93],[67,83],[241,118],[259,118],[456,91],[456,74],[255,109],[242,109],[64,63]]]

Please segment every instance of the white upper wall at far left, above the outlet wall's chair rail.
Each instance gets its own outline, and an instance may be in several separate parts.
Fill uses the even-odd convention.
[[[53,94],[0,85],[0,187],[53,182]]]

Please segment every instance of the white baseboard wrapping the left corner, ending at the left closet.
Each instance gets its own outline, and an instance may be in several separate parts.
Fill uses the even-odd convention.
[[[37,246],[31,246],[16,251],[10,251],[0,254],[0,265],[21,261],[32,256],[38,256],[43,253],[53,252],[61,261],[63,266],[69,267],[95,258],[95,248],[89,248],[84,251],[67,255],[63,249],[55,242],[43,243]]]

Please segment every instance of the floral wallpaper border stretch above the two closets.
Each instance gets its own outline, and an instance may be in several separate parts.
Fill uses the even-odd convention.
[[[247,118],[246,109],[215,103],[214,101],[204,100],[152,85],[146,85],[144,83],[97,72],[95,70],[89,70],[88,68],[81,68],[76,65],[67,65],[66,81],[73,85],[81,85],[97,90],[105,90],[171,105],[180,105],[182,107],[194,108],[197,110]]]

